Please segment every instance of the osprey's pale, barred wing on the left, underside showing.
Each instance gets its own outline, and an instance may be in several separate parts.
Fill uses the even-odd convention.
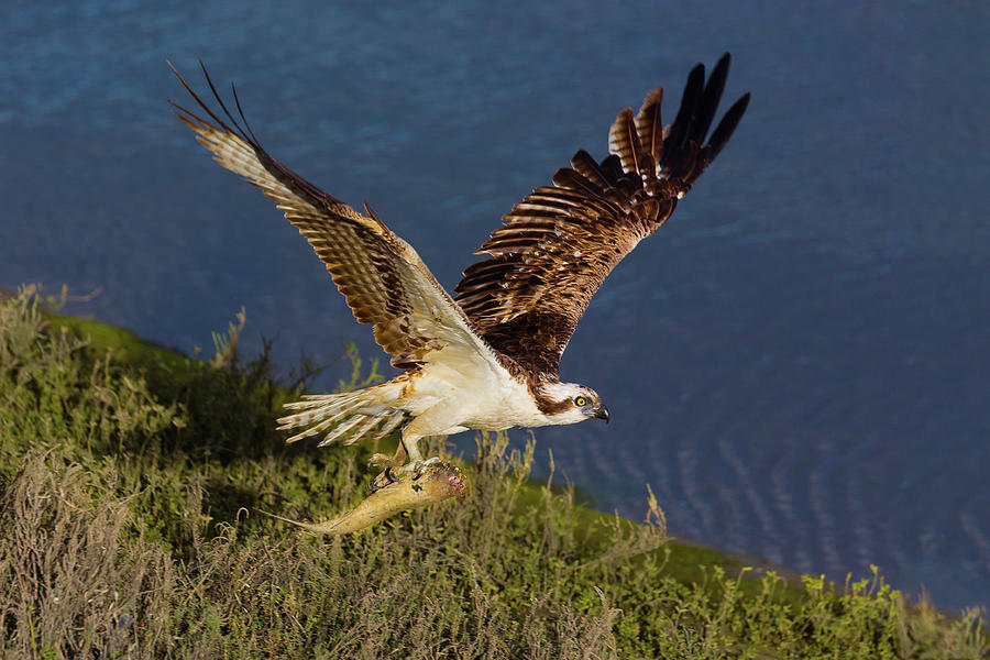
[[[237,90],[233,96],[243,127],[228,111],[206,67],[202,72],[226,119],[213,113],[178,72],[175,75],[212,123],[173,103],[176,116],[220,165],[243,176],[278,205],[326,264],[354,317],[374,326],[375,341],[392,354],[395,366],[413,367],[448,346],[481,360],[494,359],[408,243],[367,206],[366,216],[359,213],[270,156],[244,120]]]

